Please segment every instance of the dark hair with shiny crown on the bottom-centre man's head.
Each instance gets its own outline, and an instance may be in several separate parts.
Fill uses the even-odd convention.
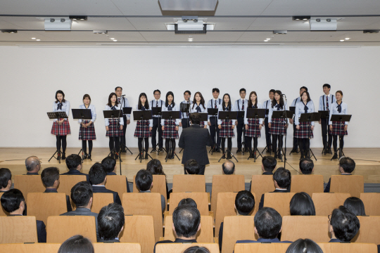
[[[178,237],[190,238],[196,235],[199,223],[201,214],[195,207],[182,205],[173,212],[173,224]]]

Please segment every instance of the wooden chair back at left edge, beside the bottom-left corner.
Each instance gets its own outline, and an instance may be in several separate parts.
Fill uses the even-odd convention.
[[[36,217],[0,216],[0,243],[24,242],[38,242]]]

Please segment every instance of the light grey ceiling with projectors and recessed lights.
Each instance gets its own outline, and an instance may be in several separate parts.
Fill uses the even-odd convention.
[[[88,19],[73,22],[71,32],[44,31],[44,21],[38,19],[68,15]],[[182,15],[207,18],[215,30],[167,31],[165,23]],[[310,32],[309,24],[292,20],[293,15],[341,20],[337,31]],[[1,0],[0,29],[18,30],[0,33],[0,46],[380,46],[380,33],[362,32],[380,29],[380,1],[219,0],[215,11],[182,12],[162,11],[158,0]]]

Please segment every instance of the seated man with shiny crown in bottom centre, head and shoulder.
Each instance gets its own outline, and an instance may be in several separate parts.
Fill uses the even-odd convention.
[[[182,205],[173,212],[173,231],[175,241],[163,240],[158,243],[196,242],[196,233],[201,229],[201,213],[195,207]],[[154,252],[156,252],[154,245]]]

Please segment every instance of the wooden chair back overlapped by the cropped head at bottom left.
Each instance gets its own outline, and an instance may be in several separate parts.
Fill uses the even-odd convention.
[[[62,243],[73,235],[83,235],[96,242],[94,216],[49,216],[46,242]]]

